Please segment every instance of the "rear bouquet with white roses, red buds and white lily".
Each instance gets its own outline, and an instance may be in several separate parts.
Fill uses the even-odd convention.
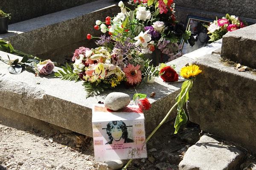
[[[125,36],[134,40],[143,54],[151,54],[158,48],[169,56],[169,60],[180,57],[180,42],[182,39],[187,42],[191,34],[183,23],[176,21],[173,0],[130,0],[129,4],[135,9],[131,10],[120,1],[121,11],[113,18],[106,17],[105,22],[97,20],[94,28],[102,33],[108,31],[111,37],[115,37],[127,20]]]

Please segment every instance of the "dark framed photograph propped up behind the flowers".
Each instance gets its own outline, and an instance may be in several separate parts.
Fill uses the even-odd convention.
[[[190,15],[187,17],[186,30],[190,29],[192,37],[190,37],[189,43],[185,43],[184,40],[181,42],[182,54],[190,53],[210,43],[208,30],[204,25],[209,25],[212,21]]]

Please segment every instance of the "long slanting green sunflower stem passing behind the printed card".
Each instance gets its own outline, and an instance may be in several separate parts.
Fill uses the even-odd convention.
[[[186,96],[186,93],[189,91],[189,87],[191,85],[192,80],[189,80],[189,83],[187,85],[186,91],[183,94],[183,96],[181,96],[181,100],[183,99],[184,96]],[[169,115],[172,113],[172,110],[178,105],[178,102],[176,102],[172,108],[170,109],[170,111],[166,114],[166,116],[163,118],[162,122],[160,122],[160,124],[151,132],[151,134],[147,137],[147,139],[145,140],[145,144],[148,142],[148,140],[154,135],[154,133],[159,129],[159,127],[161,125],[163,125],[163,123],[166,121],[166,119],[169,117]],[[122,168],[122,170],[126,170],[127,167],[129,166],[129,164],[131,164],[131,162],[133,161],[133,159],[130,159],[127,164],[125,165],[125,167]]]

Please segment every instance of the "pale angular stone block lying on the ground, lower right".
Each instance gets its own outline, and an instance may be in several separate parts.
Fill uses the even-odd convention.
[[[244,156],[236,147],[204,135],[186,151],[179,170],[239,170]]]

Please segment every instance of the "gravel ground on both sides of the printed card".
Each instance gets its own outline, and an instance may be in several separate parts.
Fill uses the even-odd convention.
[[[171,124],[171,125],[170,125]],[[177,170],[200,130],[183,127],[173,135],[166,123],[148,142],[148,159],[134,160],[128,170]],[[105,170],[96,168],[93,140],[78,133],[43,134],[39,130],[16,129],[0,122],[0,170]]]

